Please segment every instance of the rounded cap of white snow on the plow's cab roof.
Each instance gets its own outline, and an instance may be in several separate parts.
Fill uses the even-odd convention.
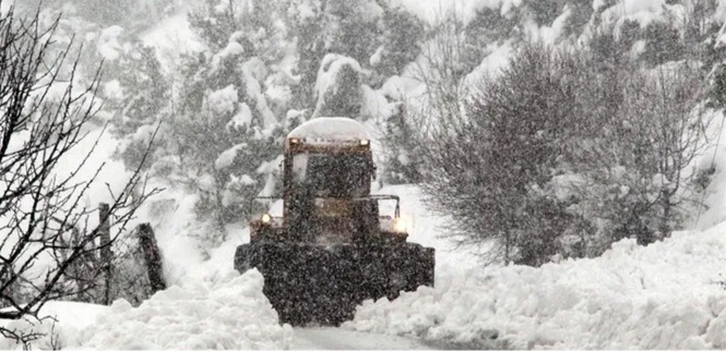
[[[346,142],[367,140],[366,126],[347,117],[319,117],[311,119],[296,129],[287,137]]]

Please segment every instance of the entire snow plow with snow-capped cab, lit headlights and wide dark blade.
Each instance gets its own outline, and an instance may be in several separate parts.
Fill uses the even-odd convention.
[[[235,269],[264,276],[281,323],[337,326],[364,300],[433,286],[435,250],[406,241],[398,197],[370,194],[374,173],[355,120],[317,118],[287,136],[283,216],[252,220],[235,253]],[[395,202],[392,215],[383,202]]]

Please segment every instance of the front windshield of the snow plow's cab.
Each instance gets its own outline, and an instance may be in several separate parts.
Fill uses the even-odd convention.
[[[364,155],[296,155],[293,171],[298,183],[317,197],[366,196],[368,160]]]

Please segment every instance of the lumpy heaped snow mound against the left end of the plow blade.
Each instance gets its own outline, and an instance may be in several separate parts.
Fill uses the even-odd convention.
[[[234,275],[234,274],[233,274]],[[82,347],[102,349],[283,349],[293,329],[279,326],[257,270],[217,286],[171,287],[139,307],[116,301],[83,331]]]

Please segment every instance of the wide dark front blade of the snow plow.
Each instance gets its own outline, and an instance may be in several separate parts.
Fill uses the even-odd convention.
[[[338,326],[368,299],[433,286],[435,250],[415,243],[378,245],[254,242],[237,247],[235,269],[257,268],[281,323]]]

